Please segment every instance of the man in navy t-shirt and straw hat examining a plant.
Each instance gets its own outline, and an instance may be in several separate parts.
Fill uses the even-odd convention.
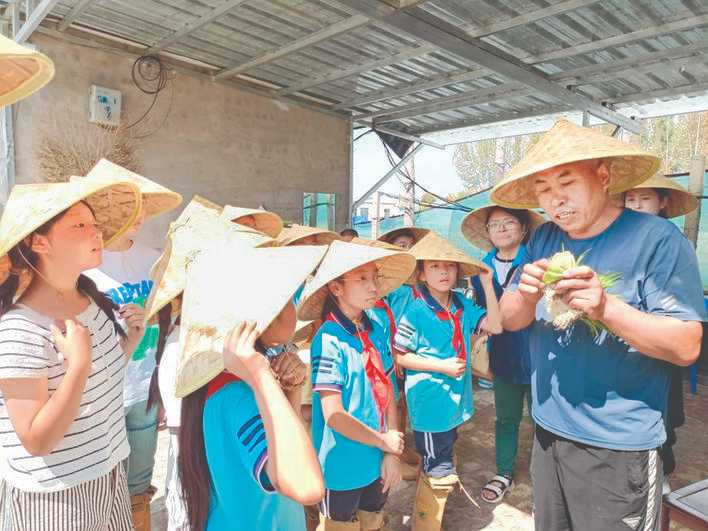
[[[551,220],[501,301],[505,329],[531,325],[537,529],[659,528],[666,364],[698,357],[700,275],[676,226],[611,200],[658,166],[561,120],[492,191]]]

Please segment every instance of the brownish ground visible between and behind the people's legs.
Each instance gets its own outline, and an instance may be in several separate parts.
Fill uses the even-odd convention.
[[[686,424],[678,430],[675,447],[678,468],[671,478],[674,489],[708,478],[708,386],[699,386],[693,396],[686,388]],[[521,427],[516,486],[504,502],[491,506],[480,499],[480,488],[494,475],[494,397],[491,391],[475,387],[475,416],[460,430],[457,442],[458,472],[468,492],[480,505],[475,507],[461,492],[448,500],[443,521],[445,531],[534,529],[531,516],[533,494],[529,462],[533,428],[524,418]],[[164,506],[164,477],[167,469],[167,435],[160,434],[153,483],[158,492],[152,503],[154,531],[167,528]],[[415,483],[402,482],[389,497],[387,512],[392,531],[410,529]],[[236,528],[234,528],[236,529]],[[673,531],[683,528],[672,525]],[[255,531],[255,530],[254,530]],[[260,531],[260,530],[258,530]],[[265,531],[265,530],[263,530]],[[268,530],[271,531],[271,530]],[[276,531],[276,530],[272,530]]]

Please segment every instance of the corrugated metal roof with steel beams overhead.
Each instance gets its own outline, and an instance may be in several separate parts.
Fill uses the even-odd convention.
[[[414,134],[708,91],[704,0],[392,3],[62,0],[43,25],[119,37],[200,61],[217,80]],[[472,60],[480,53],[498,62]]]

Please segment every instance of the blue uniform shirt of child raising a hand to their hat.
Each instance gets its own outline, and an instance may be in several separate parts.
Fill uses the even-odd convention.
[[[454,358],[453,321],[441,320],[436,312],[443,308],[430,295],[424,284],[418,286],[419,296],[413,300],[401,318],[396,332],[396,348],[419,356],[444,360]],[[459,378],[439,372],[406,369],[406,402],[411,427],[422,432],[446,432],[469,420],[472,404],[471,335],[477,331],[486,315],[485,310],[459,293],[452,292],[451,313],[462,310],[461,327],[467,368]]]

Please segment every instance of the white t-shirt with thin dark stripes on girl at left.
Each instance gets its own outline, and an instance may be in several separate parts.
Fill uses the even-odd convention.
[[[76,317],[91,332],[91,373],[64,438],[46,456],[25,450],[0,392],[0,476],[24,491],[50,492],[108,474],[130,451],[123,413],[125,358],[113,323],[91,302]],[[0,379],[47,378],[49,396],[66,372],[51,339],[52,319],[22,305],[0,317]]]

